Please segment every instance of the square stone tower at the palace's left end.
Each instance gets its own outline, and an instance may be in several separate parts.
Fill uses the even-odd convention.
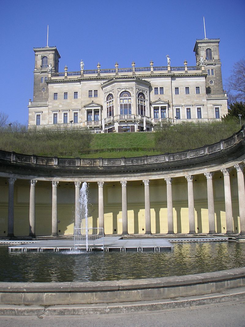
[[[59,58],[57,48],[43,47],[34,48],[35,52],[35,69],[34,69],[34,92],[33,101],[48,100],[48,65],[52,64],[52,73],[59,70]]]

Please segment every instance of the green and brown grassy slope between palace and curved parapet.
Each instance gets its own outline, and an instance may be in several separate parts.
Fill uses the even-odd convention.
[[[183,124],[152,132],[92,134],[86,131],[13,132],[0,130],[0,148],[57,157],[115,158],[176,152],[212,144],[240,129],[236,122]]]

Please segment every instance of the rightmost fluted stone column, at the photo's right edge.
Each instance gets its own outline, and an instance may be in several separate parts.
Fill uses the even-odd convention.
[[[240,216],[240,234],[245,235],[245,187],[243,176],[243,164],[236,164],[237,169],[237,186],[238,186],[238,202],[239,202],[239,216]]]

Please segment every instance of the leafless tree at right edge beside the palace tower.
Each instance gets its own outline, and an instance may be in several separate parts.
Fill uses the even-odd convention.
[[[245,60],[237,61],[232,70],[232,74],[227,80],[227,93],[230,103],[245,101]],[[228,104],[230,104],[228,103]]]

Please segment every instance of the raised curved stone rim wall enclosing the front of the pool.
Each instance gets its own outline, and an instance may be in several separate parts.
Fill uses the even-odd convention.
[[[74,305],[158,301],[245,286],[245,267],[195,275],[66,283],[0,283],[0,304]]]

